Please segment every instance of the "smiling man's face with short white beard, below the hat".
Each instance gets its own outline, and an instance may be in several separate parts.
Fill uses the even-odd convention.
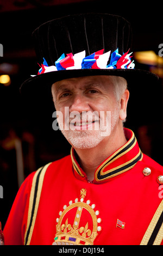
[[[52,86],[58,123],[74,148],[93,148],[118,125],[120,108],[109,76],[70,78]]]

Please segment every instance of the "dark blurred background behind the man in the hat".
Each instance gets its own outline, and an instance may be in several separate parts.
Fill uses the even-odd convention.
[[[123,16],[131,23],[131,51],[134,52],[136,68],[154,72],[159,75],[160,81],[153,88],[155,93],[152,99],[143,97],[142,101],[136,99],[136,103],[131,104],[125,126],[135,132],[143,153],[163,164],[163,57],[159,56],[160,44],[163,48],[162,5],[154,2],[145,5],[139,2],[125,1],[124,4],[124,1],[102,0],[0,1],[0,46],[3,46],[3,56],[0,57],[2,228],[24,178],[43,164],[70,154],[70,145],[66,139],[60,131],[52,129],[54,109],[49,108],[52,102],[37,99],[33,106],[30,99],[24,101],[19,92],[21,83],[39,70],[32,32],[46,21],[68,14],[99,12]],[[5,82],[3,78],[9,80]],[[130,101],[133,99],[134,95]]]

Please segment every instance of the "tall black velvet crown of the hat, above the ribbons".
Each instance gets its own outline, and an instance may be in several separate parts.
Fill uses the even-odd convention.
[[[33,32],[38,61],[45,58],[54,65],[62,53],[97,50],[118,52],[122,55],[130,48],[130,23],[120,16],[110,14],[69,15],[44,23]]]

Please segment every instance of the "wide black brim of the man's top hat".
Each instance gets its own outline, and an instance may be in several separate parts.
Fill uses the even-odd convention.
[[[131,90],[152,88],[158,82],[158,76],[139,69],[78,69],[59,70],[30,77],[22,83],[20,92],[22,95],[30,95],[30,98],[39,96],[46,97],[51,94],[52,84],[61,80],[85,76],[120,76],[127,80]],[[35,94],[36,93],[36,94]],[[29,99],[29,98],[28,98]]]

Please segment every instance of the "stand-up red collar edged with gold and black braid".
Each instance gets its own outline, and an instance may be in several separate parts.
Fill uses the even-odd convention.
[[[92,181],[93,183],[106,182],[112,177],[133,168],[137,161],[142,160],[142,153],[134,132],[124,128],[124,134],[127,143],[98,166],[95,171],[95,179]],[[85,172],[77,162],[74,148],[71,148],[71,159],[75,176],[78,179],[87,180]]]

